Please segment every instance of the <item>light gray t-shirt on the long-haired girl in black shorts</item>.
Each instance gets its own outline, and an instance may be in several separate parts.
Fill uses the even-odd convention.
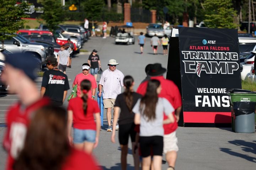
[[[166,99],[159,97],[156,103],[156,118],[152,121],[147,121],[140,113],[140,99],[137,101],[133,107],[133,112],[135,114],[140,114],[140,136],[164,136],[163,120],[165,115],[172,114],[174,108],[171,103]]]

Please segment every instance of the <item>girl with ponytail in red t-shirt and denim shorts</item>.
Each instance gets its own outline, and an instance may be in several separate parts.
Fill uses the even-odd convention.
[[[70,145],[83,150],[89,154],[98,145],[101,120],[98,103],[88,98],[87,93],[91,89],[91,82],[81,82],[81,95],[72,98],[68,104],[68,138]],[[96,119],[96,123],[94,121]],[[73,138],[71,137],[71,126],[73,124]]]

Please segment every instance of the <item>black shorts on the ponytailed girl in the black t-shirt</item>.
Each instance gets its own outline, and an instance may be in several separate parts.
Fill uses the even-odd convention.
[[[134,128],[134,123],[119,125],[118,138],[120,145],[128,145],[129,135],[132,142],[135,142],[136,131],[134,131]]]

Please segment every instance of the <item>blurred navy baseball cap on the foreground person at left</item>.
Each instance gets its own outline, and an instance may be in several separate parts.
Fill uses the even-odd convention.
[[[22,70],[27,77],[35,80],[39,71],[38,65],[41,64],[41,61],[32,56],[31,53],[12,53],[5,56],[5,63]]]

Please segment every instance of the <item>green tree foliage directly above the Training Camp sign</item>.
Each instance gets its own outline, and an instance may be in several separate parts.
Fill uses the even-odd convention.
[[[205,0],[206,15],[204,23],[209,28],[236,28],[233,23],[236,11],[232,0]]]

